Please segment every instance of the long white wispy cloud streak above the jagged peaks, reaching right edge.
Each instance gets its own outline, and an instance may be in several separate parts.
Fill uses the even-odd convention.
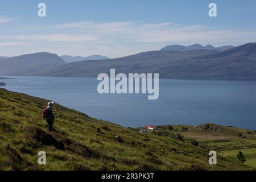
[[[133,41],[140,43],[171,43],[171,42],[241,42],[245,39],[256,41],[256,31],[232,30],[209,26],[181,26],[170,22],[73,22],[57,24],[52,28],[72,30],[98,36],[101,40],[112,38],[112,41]],[[121,36],[121,37],[120,37]],[[99,39],[99,40],[100,40]]]

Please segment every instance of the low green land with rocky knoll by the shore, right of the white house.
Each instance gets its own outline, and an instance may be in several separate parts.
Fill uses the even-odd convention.
[[[182,136],[185,142],[198,144],[205,150],[216,151],[232,161],[240,162],[237,154],[242,151],[245,155],[245,164],[256,169],[256,131],[238,129],[232,126],[220,126],[213,123],[204,123],[199,126],[168,125],[157,126],[156,135],[165,134]],[[196,142],[195,142],[196,141]]]

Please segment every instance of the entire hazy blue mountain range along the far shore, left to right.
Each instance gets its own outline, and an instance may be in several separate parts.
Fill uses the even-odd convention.
[[[0,59],[0,65],[0,75],[6,76],[97,77],[115,68],[117,73],[159,73],[160,78],[236,80],[256,78],[256,43],[221,51],[205,48],[148,51],[116,59],[73,63],[65,63],[55,54],[40,52]]]

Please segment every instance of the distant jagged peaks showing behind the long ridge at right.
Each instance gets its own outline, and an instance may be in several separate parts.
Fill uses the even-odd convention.
[[[226,49],[230,49],[233,47],[234,46],[221,46],[221,47],[213,47],[212,45],[202,46],[201,44],[193,44],[191,46],[170,45],[160,49],[160,51],[189,51],[189,50],[195,50],[195,49],[225,51]]]

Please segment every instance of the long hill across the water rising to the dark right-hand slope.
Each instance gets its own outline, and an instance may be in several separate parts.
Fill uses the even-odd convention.
[[[150,51],[110,60],[78,61],[37,72],[40,76],[97,77],[110,68],[121,73],[159,73],[160,78],[256,78],[256,43],[226,51]]]

